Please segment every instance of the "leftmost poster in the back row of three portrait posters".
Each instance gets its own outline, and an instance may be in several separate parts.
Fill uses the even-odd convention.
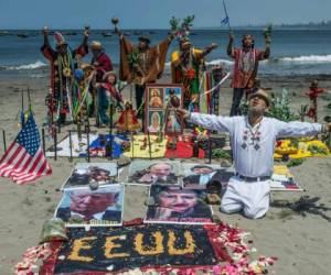
[[[115,163],[77,163],[62,189],[88,186],[90,183],[109,185],[117,183]]]

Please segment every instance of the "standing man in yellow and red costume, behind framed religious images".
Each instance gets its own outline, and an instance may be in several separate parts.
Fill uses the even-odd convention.
[[[200,77],[204,57],[217,45],[212,43],[204,50],[194,48],[188,37],[180,40],[180,51],[171,55],[171,73],[173,84],[184,86],[184,106],[189,107],[191,101],[199,102]]]

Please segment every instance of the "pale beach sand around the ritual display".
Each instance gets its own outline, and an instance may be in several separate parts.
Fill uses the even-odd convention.
[[[291,95],[293,110],[299,110],[301,105],[308,105],[309,99],[303,96],[308,90],[310,80],[316,77],[293,76],[274,77],[261,76],[264,87],[273,88],[279,94],[287,88]],[[320,86],[331,90],[329,76],[318,76]],[[161,79],[167,82],[169,76]],[[0,128],[6,130],[7,145],[19,132],[18,113],[21,107],[21,89],[29,85],[34,117],[39,127],[45,121],[46,108],[44,105],[47,92],[47,78],[13,78],[0,77]],[[232,100],[229,82],[221,96],[221,113],[228,114]],[[128,91],[126,91],[128,95]],[[328,102],[330,94],[319,99],[319,108]],[[323,117],[321,111],[320,118]],[[67,128],[70,129],[70,127]],[[73,128],[72,128],[73,129]],[[62,131],[61,136],[64,136]],[[2,138],[0,154],[3,154]],[[47,145],[51,142],[47,141]],[[106,160],[93,158],[93,162]],[[42,224],[52,218],[62,194],[60,187],[68,177],[75,162],[67,158],[50,160],[53,175],[43,177],[34,184],[19,186],[9,179],[0,178],[0,274],[12,274],[13,266],[21,260],[22,253],[30,246],[39,243]],[[216,161],[213,161],[216,162]],[[331,158],[309,158],[302,165],[291,168],[297,182],[305,193],[273,193],[273,202],[286,200],[296,201],[300,196],[320,197],[319,202],[331,207]],[[125,220],[143,217],[143,200],[147,189],[141,187],[126,188]],[[217,208],[214,208],[217,211]],[[237,226],[252,233],[257,255],[277,256],[271,274],[330,274],[331,271],[331,238],[330,226],[325,219],[318,215],[307,213],[299,216],[288,208],[270,207],[269,212],[259,220],[248,220],[241,215],[223,215],[217,211],[224,222]],[[331,211],[327,212],[331,217]],[[329,260],[328,260],[329,258]]]

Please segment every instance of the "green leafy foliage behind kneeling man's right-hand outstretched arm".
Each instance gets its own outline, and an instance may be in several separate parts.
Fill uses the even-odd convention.
[[[290,110],[289,95],[282,89],[281,97],[273,97],[271,106],[266,117],[275,118],[285,122],[300,119],[300,117]]]

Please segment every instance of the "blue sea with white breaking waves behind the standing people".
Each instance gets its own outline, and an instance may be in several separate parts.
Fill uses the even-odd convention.
[[[61,31],[60,31],[61,32]],[[83,41],[83,30],[62,31],[71,47],[76,47]],[[109,31],[90,31],[89,41],[100,41],[114,65],[119,63],[118,36],[104,36]],[[26,34],[20,37],[17,34]],[[67,33],[68,35],[65,35]],[[152,44],[159,43],[168,35],[168,30],[126,30],[128,38],[137,43],[138,36],[150,36]],[[235,30],[235,45],[241,46],[242,35],[250,33],[255,37],[255,47],[264,48],[263,31]],[[275,30],[271,36],[271,57],[261,62],[259,74],[266,75],[318,75],[331,73],[331,30]],[[54,45],[53,35],[50,35]],[[228,32],[225,30],[194,30],[191,41],[196,47],[204,47],[212,42],[218,44],[206,58],[209,65],[222,64],[232,69],[233,61],[226,55]],[[1,35],[0,32],[0,75],[30,75],[32,77],[47,77],[49,62],[43,57],[40,47],[43,44],[41,31],[10,31]],[[174,40],[167,57],[166,73],[170,69],[170,53],[178,50],[179,43]],[[90,54],[84,62],[90,61]]]

